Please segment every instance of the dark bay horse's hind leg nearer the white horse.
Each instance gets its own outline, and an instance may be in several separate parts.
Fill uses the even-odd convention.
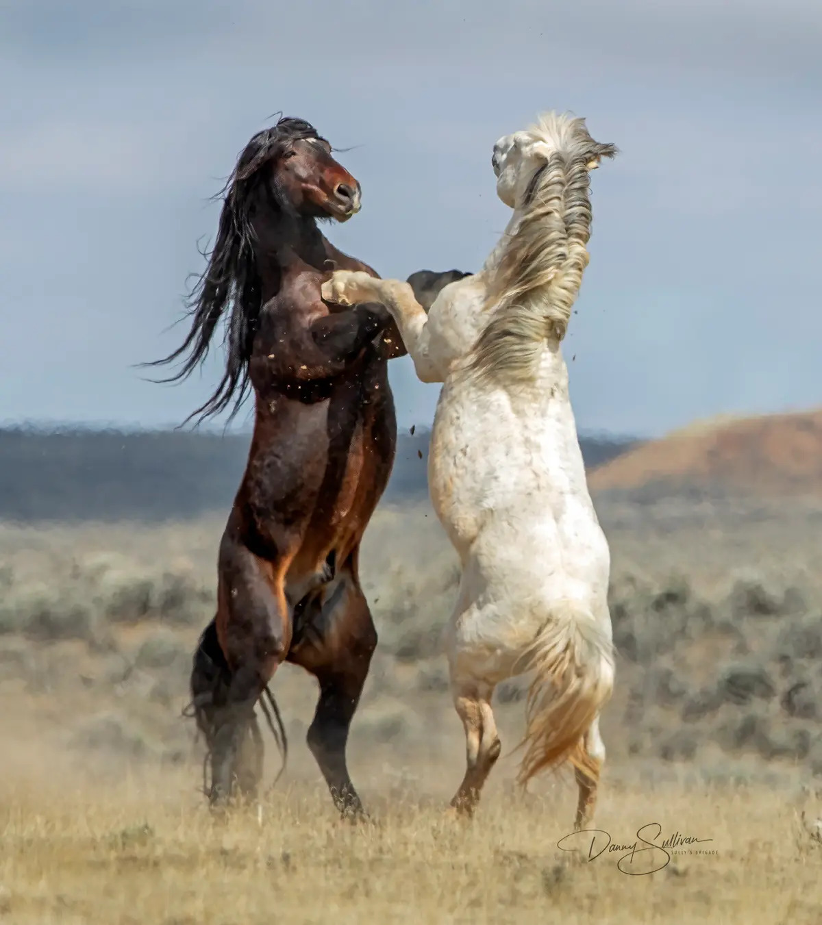
[[[307,741],[343,817],[365,816],[348,773],[345,747],[377,631],[367,600],[350,567],[341,570],[321,611],[305,614],[304,632],[288,659],[315,675],[319,699]]]

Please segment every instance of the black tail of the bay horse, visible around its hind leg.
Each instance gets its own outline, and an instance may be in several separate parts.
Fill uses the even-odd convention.
[[[214,736],[217,733],[217,718],[219,711],[224,709],[228,704],[228,694],[231,684],[231,669],[228,661],[219,645],[217,635],[216,618],[205,627],[197,642],[197,648],[194,651],[192,660],[192,674],[190,680],[190,689],[192,699],[183,709],[182,715],[192,719],[197,724],[198,732],[205,737],[205,758],[203,761],[203,785],[206,790],[206,768],[211,758],[214,746]],[[288,737],[285,734],[285,726],[280,715],[280,708],[277,706],[277,700],[271,693],[271,689],[266,685],[263,688],[264,697],[260,697],[259,705],[263,710],[266,718],[268,729],[274,737],[277,744],[277,750],[280,752],[282,764],[277,777],[274,779],[274,786],[285,771],[288,761]],[[268,697],[268,704],[266,703]],[[271,711],[269,711],[270,706]],[[272,719],[271,712],[274,717]],[[276,724],[275,724],[276,721]]]

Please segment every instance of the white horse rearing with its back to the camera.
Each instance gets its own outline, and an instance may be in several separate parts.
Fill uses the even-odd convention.
[[[592,819],[614,683],[610,553],[560,343],[589,260],[589,172],[615,154],[584,119],[554,113],[496,142],[497,194],[514,215],[482,270],[445,286],[428,314],[397,280],[341,270],[322,290],[342,305],[385,304],[417,376],[443,383],[429,487],[462,563],[444,640],[467,738],[451,805],[468,815],[500,754],[493,690],[533,672],[519,783],[569,759],[576,825]]]

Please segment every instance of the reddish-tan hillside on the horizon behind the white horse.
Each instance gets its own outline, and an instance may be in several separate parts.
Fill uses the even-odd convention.
[[[822,409],[697,423],[641,444],[589,476],[592,491],[653,483],[822,495]]]

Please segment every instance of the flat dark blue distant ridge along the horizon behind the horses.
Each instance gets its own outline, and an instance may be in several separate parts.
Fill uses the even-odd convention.
[[[0,519],[23,522],[156,522],[228,512],[240,484],[249,435],[203,432],[0,429]],[[427,496],[430,431],[401,431],[383,500]],[[635,441],[583,438],[589,467]],[[421,454],[421,456],[420,456]]]

